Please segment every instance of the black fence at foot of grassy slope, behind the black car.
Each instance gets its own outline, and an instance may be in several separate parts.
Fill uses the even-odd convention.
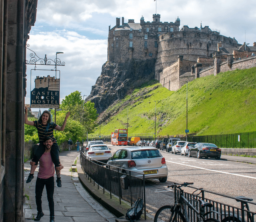
[[[181,137],[186,140],[186,137]],[[214,143],[221,148],[256,148],[256,131],[223,135],[191,136],[187,141],[194,143]]]

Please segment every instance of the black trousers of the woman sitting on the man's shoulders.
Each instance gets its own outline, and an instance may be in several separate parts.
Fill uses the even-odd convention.
[[[39,146],[37,147],[34,157],[32,159],[32,161],[36,163],[35,165],[38,164],[38,161],[41,158],[41,156],[44,154],[44,152],[45,152],[45,145],[44,145],[44,143],[40,143]],[[59,148],[58,144],[53,143],[52,148],[51,148],[51,157],[52,157],[52,162],[54,163],[55,167],[60,166],[59,153],[60,153],[60,148]]]

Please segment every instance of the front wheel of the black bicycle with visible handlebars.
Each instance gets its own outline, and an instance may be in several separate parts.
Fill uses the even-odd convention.
[[[180,211],[174,212],[172,208],[173,206],[170,205],[160,207],[156,212],[154,222],[172,222],[175,220],[177,222],[186,222],[182,213]],[[179,217],[177,217],[177,213]]]

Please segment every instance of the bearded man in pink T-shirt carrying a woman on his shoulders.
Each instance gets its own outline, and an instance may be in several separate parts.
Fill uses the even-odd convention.
[[[51,137],[45,137],[43,142],[45,151],[43,155],[39,159],[39,171],[36,179],[36,207],[37,207],[37,216],[34,219],[35,221],[39,221],[41,217],[44,216],[42,210],[42,194],[44,190],[44,186],[46,187],[47,200],[49,203],[50,210],[50,222],[54,222],[54,201],[53,201],[53,193],[54,193],[54,164],[51,158],[51,148],[53,145],[53,139]],[[30,165],[34,166],[36,163],[31,161]],[[63,166],[59,164],[58,167],[55,167],[60,173],[60,170],[63,169]]]

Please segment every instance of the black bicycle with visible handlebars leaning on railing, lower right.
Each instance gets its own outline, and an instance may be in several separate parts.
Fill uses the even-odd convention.
[[[197,222],[220,222],[219,220],[215,218],[205,218],[206,215],[211,214],[211,213],[217,213],[220,214],[217,211],[208,211],[205,213],[205,207],[212,207],[212,204],[209,202],[206,202],[201,199],[196,199],[196,197],[202,192],[200,191],[198,194],[195,195],[195,192],[200,190],[201,188],[195,190],[192,195],[193,199],[187,200],[184,195],[183,195],[183,190],[181,187],[186,187],[187,185],[194,184],[194,183],[182,183],[182,184],[173,184],[169,187],[176,187],[181,191],[181,194],[179,196],[179,199],[176,201],[174,205],[166,205],[162,206],[158,209],[156,212],[154,222],[190,222],[188,213],[187,213],[187,206],[190,208],[192,211],[194,211],[197,215]],[[196,202],[196,205],[200,203],[199,211],[193,206],[190,202],[194,201]],[[178,217],[179,216],[179,217]]]

